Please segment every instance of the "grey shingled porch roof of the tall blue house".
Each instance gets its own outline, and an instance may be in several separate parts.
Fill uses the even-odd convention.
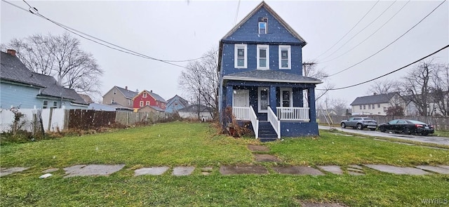
[[[311,77],[290,74],[277,70],[254,69],[248,72],[239,72],[223,76],[225,80],[235,81],[259,81],[276,83],[297,83],[297,84],[321,84],[323,81]]]

